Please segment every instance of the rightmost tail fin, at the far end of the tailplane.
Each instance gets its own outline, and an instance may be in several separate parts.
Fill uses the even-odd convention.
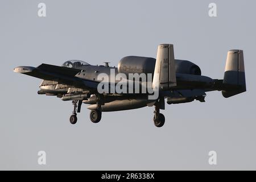
[[[222,96],[226,98],[246,91],[242,50],[228,51],[223,84],[226,86],[225,90],[222,90]]]

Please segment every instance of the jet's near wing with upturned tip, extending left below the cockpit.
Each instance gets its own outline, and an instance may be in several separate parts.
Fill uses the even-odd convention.
[[[40,78],[43,80],[52,80],[61,82],[67,85],[73,85],[78,88],[85,89],[97,89],[97,82],[90,80],[84,80],[82,78],[76,77],[80,72],[80,69],[59,67],[50,64],[41,64],[39,67],[16,67],[14,72],[22,73],[24,75],[29,75],[32,77]]]

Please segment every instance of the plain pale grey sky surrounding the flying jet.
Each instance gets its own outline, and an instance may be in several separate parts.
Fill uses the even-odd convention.
[[[47,16],[39,18],[38,3]],[[217,4],[217,17],[208,5]],[[251,1],[1,1],[0,169],[256,169],[256,2]],[[90,122],[82,105],[37,94],[40,80],[13,72],[20,65],[61,65],[81,59],[117,66],[127,55],[156,57],[160,43],[191,60],[203,75],[222,78],[226,53],[243,49],[247,92],[205,103],[166,105],[156,128],[153,107],[102,113]],[[38,164],[38,151],[47,164]],[[208,152],[217,152],[217,165]]]

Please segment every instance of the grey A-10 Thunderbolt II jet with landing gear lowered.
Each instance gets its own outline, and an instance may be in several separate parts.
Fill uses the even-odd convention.
[[[108,63],[98,66],[69,60],[61,67],[41,64],[36,68],[16,67],[14,72],[43,79],[38,94],[72,101],[72,124],[84,103],[89,104],[94,123],[101,120],[104,111],[154,106],[154,124],[162,127],[165,118],[159,110],[165,109],[166,98],[167,104],[205,102],[205,92],[222,91],[227,98],[246,91],[243,51],[238,49],[228,51],[222,80],[201,76],[199,66],[191,61],[174,59],[172,44],[160,44],[156,59],[123,57],[117,68]]]

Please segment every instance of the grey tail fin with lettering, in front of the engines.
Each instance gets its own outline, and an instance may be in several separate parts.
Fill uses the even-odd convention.
[[[168,90],[176,86],[174,45],[160,44],[156,56],[153,89]]]

